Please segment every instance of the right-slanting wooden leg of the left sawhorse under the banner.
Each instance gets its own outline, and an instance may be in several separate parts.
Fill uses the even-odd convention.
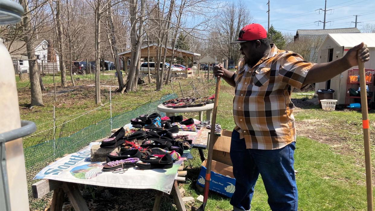
[[[62,185],[64,192],[68,195],[75,211],[89,211],[83,196],[74,183],[64,182]]]

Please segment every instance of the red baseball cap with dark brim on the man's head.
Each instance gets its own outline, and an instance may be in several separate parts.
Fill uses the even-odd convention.
[[[243,27],[238,35],[238,40],[230,43],[248,42],[267,38],[267,31],[260,24],[249,24]]]

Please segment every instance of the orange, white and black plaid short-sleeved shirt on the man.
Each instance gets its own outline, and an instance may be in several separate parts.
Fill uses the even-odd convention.
[[[290,95],[293,87],[308,86],[305,77],[315,65],[299,54],[271,46],[254,67],[241,61],[234,76],[234,129],[245,138],[248,149],[275,150],[296,141]]]

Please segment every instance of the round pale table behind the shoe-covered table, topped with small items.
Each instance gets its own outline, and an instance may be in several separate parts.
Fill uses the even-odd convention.
[[[206,120],[211,120],[213,103],[205,106],[191,108],[167,108],[163,104],[157,106],[157,110],[165,112],[167,117],[174,116],[175,113],[199,112],[199,121],[203,121],[203,111],[206,111]]]

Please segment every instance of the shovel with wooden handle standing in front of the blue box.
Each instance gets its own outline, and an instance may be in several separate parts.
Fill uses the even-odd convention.
[[[209,68],[209,66],[208,66]],[[204,211],[204,208],[207,204],[208,192],[210,190],[210,178],[211,178],[211,163],[212,163],[212,154],[213,154],[213,140],[215,137],[215,125],[216,125],[216,112],[217,112],[217,103],[219,102],[219,93],[220,93],[220,84],[221,78],[216,78],[216,89],[215,89],[215,99],[213,103],[213,114],[211,121],[211,132],[210,132],[210,142],[208,142],[208,156],[206,162],[206,176],[204,179],[204,193],[203,193],[203,204],[198,208],[197,211]],[[195,211],[195,207],[192,207],[192,211]]]

